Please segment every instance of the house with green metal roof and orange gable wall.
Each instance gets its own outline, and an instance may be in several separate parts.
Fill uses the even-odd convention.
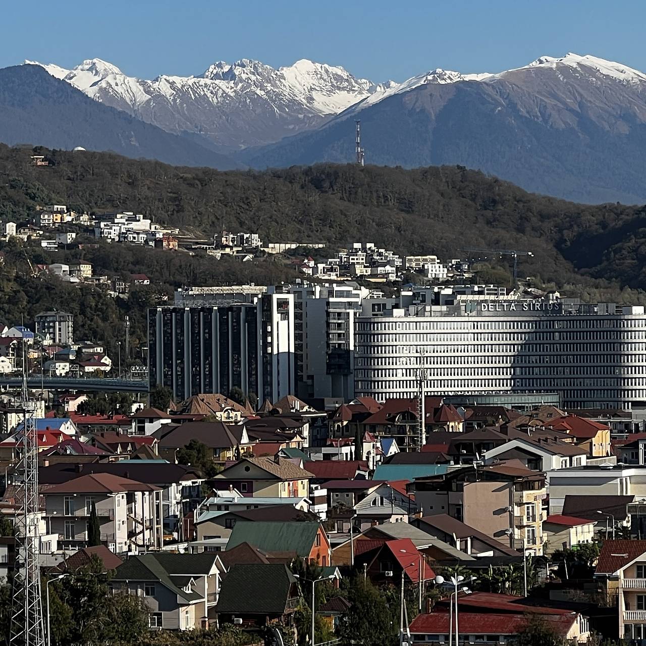
[[[318,521],[240,521],[233,525],[227,549],[240,543],[287,559],[298,557],[320,567],[330,565],[328,535]]]

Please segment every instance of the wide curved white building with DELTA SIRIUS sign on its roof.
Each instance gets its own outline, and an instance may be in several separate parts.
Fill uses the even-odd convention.
[[[460,302],[357,318],[355,395],[558,393],[567,408],[646,407],[643,307]]]

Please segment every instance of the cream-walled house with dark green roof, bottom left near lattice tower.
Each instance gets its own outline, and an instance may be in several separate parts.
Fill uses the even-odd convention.
[[[141,554],[116,568],[110,585],[145,600],[151,629],[201,629],[214,618],[224,570],[216,554]]]

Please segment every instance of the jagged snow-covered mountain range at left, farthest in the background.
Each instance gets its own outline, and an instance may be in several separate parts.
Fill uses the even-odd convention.
[[[42,67],[101,103],[169,132],[205,136],[222,149],[278,141],[390,87],[306,59],[278,69],[249,59],[219,61],[198,76],[151,81],[127,76],[98,58],[71,70]]]

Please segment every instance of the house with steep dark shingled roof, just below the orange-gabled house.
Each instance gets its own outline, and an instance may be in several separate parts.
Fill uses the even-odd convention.
[[[299,605],[297,579],[284,563],[237,563],[222,582],[216,612],[220,625],[293,626]]]

